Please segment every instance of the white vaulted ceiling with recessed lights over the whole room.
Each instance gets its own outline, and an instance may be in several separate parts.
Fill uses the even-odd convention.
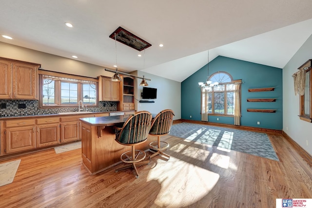
[[[312,1],[0,0],[0,18],[0,34],[13,38],[2,42],[111,69],[117,57],[118,70],[181,82],[207,64],[207,50],[209,60],[283,68],[312,34]],[[119,26],[152,46],[117,42],[116,53],[109,35]]]

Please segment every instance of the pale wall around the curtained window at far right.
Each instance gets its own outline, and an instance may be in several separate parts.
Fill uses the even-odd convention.
[[[283,68],[283,131],[312,155],[312,123],[298,117],[299,95],[294,95],[292,77],[292,74],[298,71],[298,67],[308,59],[312,59],[312,36]]]

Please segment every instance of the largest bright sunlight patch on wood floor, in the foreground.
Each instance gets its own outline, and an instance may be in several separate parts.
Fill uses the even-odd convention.
[[[155,204],[159,207],[189,206],[207,195],[219,180],[219,174],[171,157],[157,159],[147,182],[156,180],[161,189]]]

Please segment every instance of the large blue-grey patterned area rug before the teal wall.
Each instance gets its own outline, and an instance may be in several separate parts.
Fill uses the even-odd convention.
[[[170,135],[216,146],[218,149],[240,151],[279,161],[266,133],[179,123],[172,126]]]

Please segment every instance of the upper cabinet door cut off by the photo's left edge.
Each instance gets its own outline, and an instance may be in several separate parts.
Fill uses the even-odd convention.
[[[12,63],[0,60],[0,99],[12,98]]]

